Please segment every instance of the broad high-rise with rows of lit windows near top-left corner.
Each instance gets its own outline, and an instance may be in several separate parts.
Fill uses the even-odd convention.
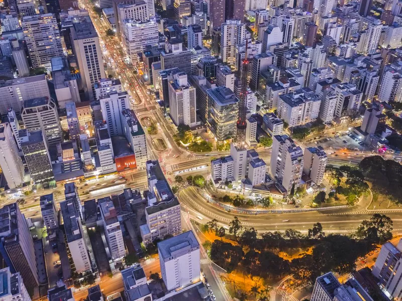
[[[50,70],[51,59],[63,55],[55,15],[44,14],[23,17],[21,27],[24,31],[32,67],[45,67]]]

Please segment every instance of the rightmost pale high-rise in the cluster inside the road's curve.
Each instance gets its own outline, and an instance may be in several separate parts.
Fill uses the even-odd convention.
[[[303,172],[312,179],[316,185],[323,183],[327,154],[322,146],[306,147],[304,154]]]

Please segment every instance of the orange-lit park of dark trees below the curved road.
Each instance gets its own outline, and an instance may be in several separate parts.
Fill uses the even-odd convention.
[[[360,256],[392,238],[393,229],[392,220],[381,214],[363,220],[347,235],[327,234],[319,222],[307,233],[286,229],[259,235],[253,227],[244,227],[237,217],[228,228],[220,227],[217,220],[208,222],[203,230],[219,239],[204,245],[211,260],[228,274],[247,275],[248,279],[259,283],[253,285],[258,286],[258,291],[251,286],[245,295],[257,300],[264,300],[266,293],[263,292],[289,274],[297,281],[312,284],[328,271],[338,275],[352,272]],[[244,288],[234,291],[237,297],[244,292]]]

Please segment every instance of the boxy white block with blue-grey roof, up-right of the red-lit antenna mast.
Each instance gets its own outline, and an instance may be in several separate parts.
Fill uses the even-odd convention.
[[[289,127],[315,121],[320,112],[321,99],[308,88],[279,96],[278,117]]]

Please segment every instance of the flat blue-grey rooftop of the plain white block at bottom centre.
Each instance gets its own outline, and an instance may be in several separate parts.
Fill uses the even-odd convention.
[[[187,231],[158,242],[158,252],[164,260],[169,260],[171,257],[181,256],[194,248],[199,249],[199,243],[192,231]]]

